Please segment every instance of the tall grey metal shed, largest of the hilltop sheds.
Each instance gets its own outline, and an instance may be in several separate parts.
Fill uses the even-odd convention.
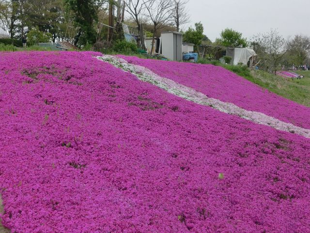
[[[182,61],[182,33],[161,33],[161,54],[172,61]]]

